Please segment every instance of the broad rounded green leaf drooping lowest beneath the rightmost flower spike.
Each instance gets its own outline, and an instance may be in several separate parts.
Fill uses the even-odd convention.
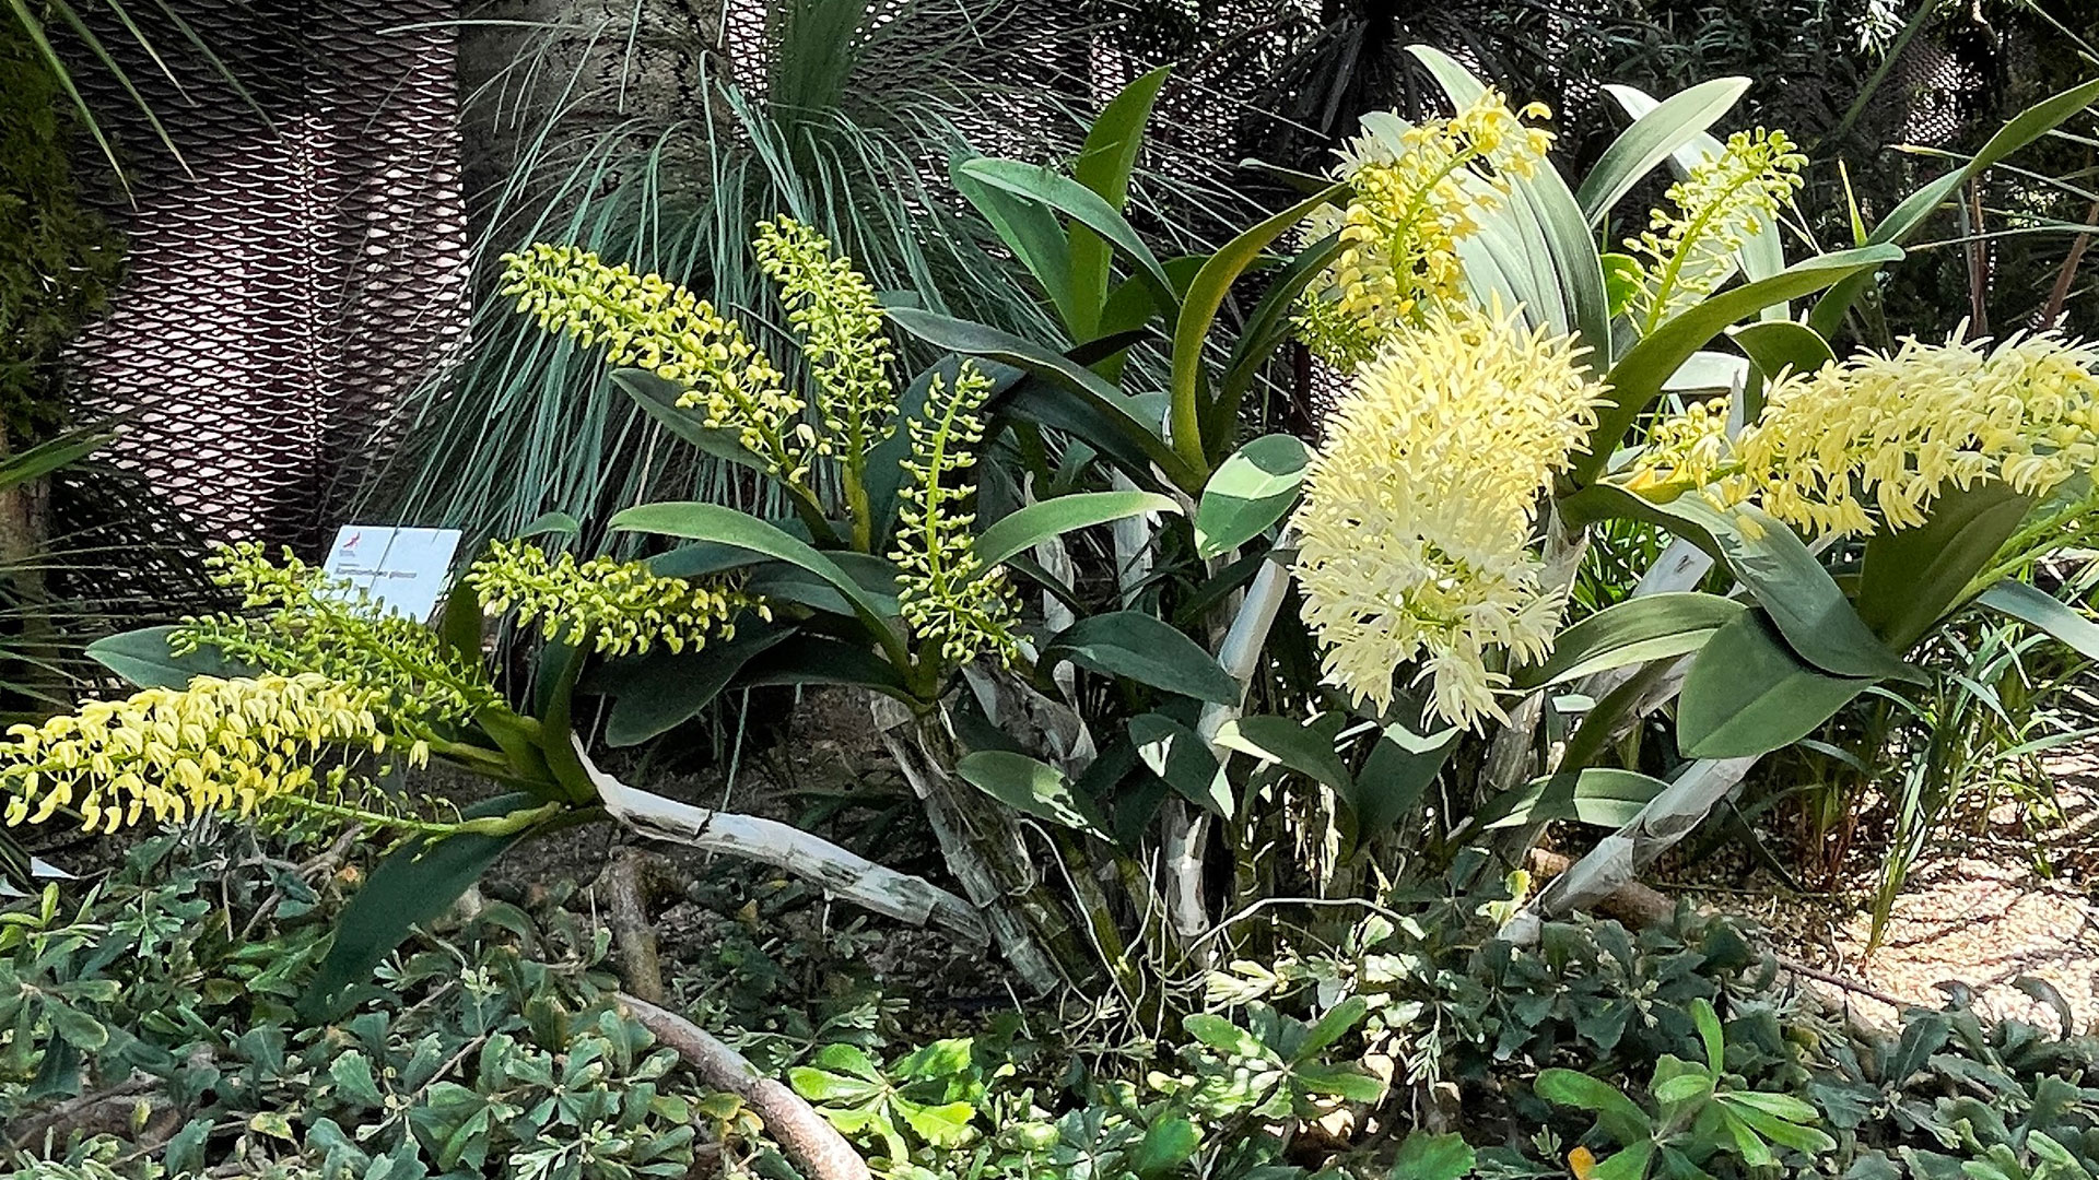
[[[1793,745],[1872,680],[1826,676],[1801,661],[1761,613],[1713,632],[1677,699],[1683,758],[1751,758]]]

